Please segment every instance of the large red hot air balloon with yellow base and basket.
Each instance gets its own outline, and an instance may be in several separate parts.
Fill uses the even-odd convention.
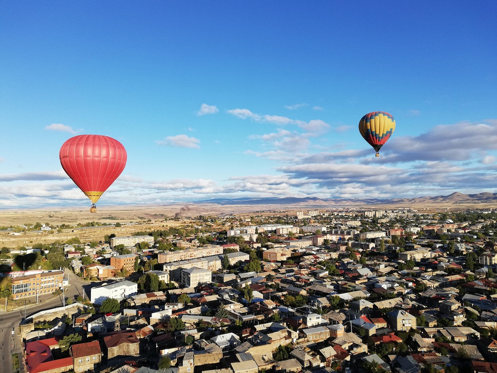
[[[95,204],[124,170],[127,155],[112,137],[79,135],[62,145],[59,158],[67,175],[90,199],[90,212],[97,212]]]

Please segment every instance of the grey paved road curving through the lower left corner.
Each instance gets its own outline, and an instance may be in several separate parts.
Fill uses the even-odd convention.
[[[88,289],[90,283],[82,280],[68,269],[64,270],[64,274],[69,276],[69,286],[64,289],[64,297],[76,300],[78,296],[83,296],[83,286]],[[85,298],[87,299],[88,297],[85,295]],[[34,301],[36,300],[34,299]],[[26,314],[29,317],[33,313],[62,305],[62,294],[60,296],[46,295],[39,298],[38,305],[27,304],[26,308],[20,307],[16,311],[0,312],[0,367],[2,367],[0,371],[11,371],[12,353],[21,353],[23,351],[21,337],[18,334],[19,324],[24,319],[24,315]],[[12,334],[12,330],[14,330],[14,334]],[[20,359],[20,363],[22,365],[22,359]]]

